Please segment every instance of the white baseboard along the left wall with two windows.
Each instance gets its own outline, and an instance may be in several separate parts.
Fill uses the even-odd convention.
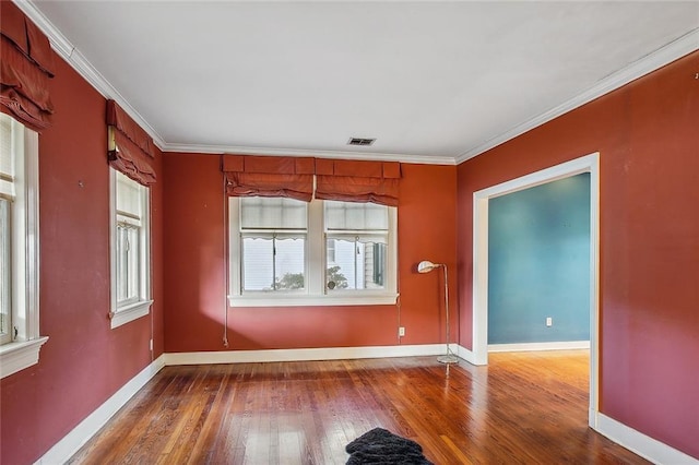
[[[82,420],[71,432],[58,441],[35,464],[63,464],[73,456],[99,429],[139,392],[165,366],[165,357],[159,356],[139,374],[127,382],[119,391]]]

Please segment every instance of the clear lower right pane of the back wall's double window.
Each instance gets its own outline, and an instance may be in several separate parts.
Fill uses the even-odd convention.
[[[328,238],[325,243],[328,290],[384,287],[386,243],[363,242],[358,238]]]

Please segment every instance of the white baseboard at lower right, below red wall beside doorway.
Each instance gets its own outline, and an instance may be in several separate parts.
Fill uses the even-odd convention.
[[[604,414],[597,414],[595,430],[654,464],[691,465],[699,460],[643,434]]]

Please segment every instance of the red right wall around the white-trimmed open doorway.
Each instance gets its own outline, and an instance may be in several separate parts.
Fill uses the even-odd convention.
[[[699,52],[458,169],[461,344],[473,192],[600,152],[601,412],[699,457]]]

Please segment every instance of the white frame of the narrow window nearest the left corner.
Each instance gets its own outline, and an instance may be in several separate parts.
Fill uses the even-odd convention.
[[[118,175],[117,175],[118,174]],[[151,312],[153,300],[151,297],[151,189],[127,178],[129,182],[138,184],[139,202],[141,204],[141,226],[139,229],[139,283],[138,298],[119,302],[117,300],[119,276],[117,273],[117,236],[118,225],[122,216],[117,212],[117,176],[125,176],[109,167],[109,267],[110,267],[110,326],[119,327]]]

